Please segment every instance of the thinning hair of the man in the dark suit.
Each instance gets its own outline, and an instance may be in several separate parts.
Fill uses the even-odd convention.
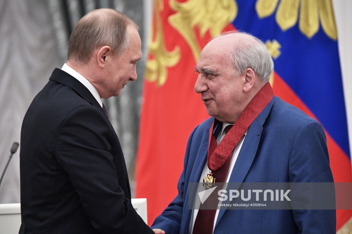
[[[94,50],[110,46],[117,56],[127,49],[127,26],[138,26],[126,15],[109,8],[96,9],[84,15],[73,29],[68,46],[67,60],[87,64]]]

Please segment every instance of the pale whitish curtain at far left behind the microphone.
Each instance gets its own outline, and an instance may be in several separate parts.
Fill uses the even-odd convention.
[[[0,173],[34,96],[60,65],[46,1],[0,1]],[[0,187],[0,203],[20,201],[19,150]]]

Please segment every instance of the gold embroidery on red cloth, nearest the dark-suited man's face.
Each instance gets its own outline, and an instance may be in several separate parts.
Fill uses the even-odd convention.
[[[161,23],[160,12],[163,11],[163,1],[154,0],[154,13],[156,19],[155,40],[153,41],[153,28],[149,37],[149,53],[153,58],[148,59],[145,68],[145,79],[149,82],[155,82],[157,86],[165,84],[167,78],[166,67],[175,66],[180,61],[180,47],[175,46],[171,52],[165,49],[163,39],[163,27]]]

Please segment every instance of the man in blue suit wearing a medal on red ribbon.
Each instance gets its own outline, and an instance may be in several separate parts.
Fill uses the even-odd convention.
[[[191,133],[178,194],[152,228],[167,234],[335,233],[333,209],[207,210],[191,205],[189,196],[196,194],[189,184],[210,177],[237,183],[231,189],[243,182],[276,187],[279,182],[333,182],[323,128],[274,96],[269,84],[273,69],[262,41],[245,33],[221,35],[204,47],[195,91],[212,117]]]

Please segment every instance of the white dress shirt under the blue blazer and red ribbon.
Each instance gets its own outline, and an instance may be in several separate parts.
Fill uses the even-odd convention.
[[[221,134],[219,134],[218,137],[216,138],[216,142],[217,142],[218,144],[219,144],[220,141],[222,141],[222,139],[225,137],[225,135],[226,135],[225,127],[228,126],[228,125],[231,125],[231,124],[228,124],[228,123],[223,123],[223,124],[222,124]],[[248,130],[247,130],[247,131],[248,131]],[[230,162],[230,167],[228,168],[228,172],[227,172],[227,176],[226,176],[226,180],[225,180],[226,183],[230,180],[233,167],[234,167],[234,165],[235,165],[235,163],[236,163],[238,154],[239,154],[239,152],[240,152],[240,150],[241,150],[241,147],[242,147],[244,138],[246,137],[247,131],[245,132],[245,134],[243,135],[243,137],[240,139],[240,141],[238,142],[238,144],[237,144],[236,147],[235,147],[235,150],[233,151],[233,155],[232,155],[231,162]],[[202,174],[201,174],[201,176],[200,176],[200,180],[199,180],[200,183],[203,183],[203,178],[206,177],[208,173],[209,173],[208,164],[205,163],[204,169],[203,169]],[[216,210],[216,213],[215,213],[214,225],[213,225],[213,232],[214,232],[216,220],[218,219],[219,211],[220,211],[220,210],[217,209],[217,210]],[[196,221],[197,214],[198,214],[198,209],[193,209],[193,210],[192,210],[192,215],[191,215],[191,220],[190,220],[189,233],[192,233],[192,232],[193,232],[193,227],[194,227],[194,223],[195,223],[195,221]]]

